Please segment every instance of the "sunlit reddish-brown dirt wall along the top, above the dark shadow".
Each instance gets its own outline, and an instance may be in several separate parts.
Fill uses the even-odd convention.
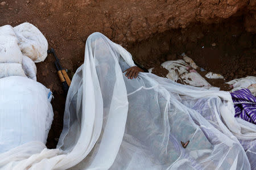
[[[2,1],[1,24],[24,21],[65,40],[102,32],[126,45],[153,33],[185,28],[190,23],[218,23],[232,15],[245,15],[247,31],[255,32],[255,0],[44,0]],[[45,27],[48,27],[45,28]],[[53,28],[57,27],[57,28]],[[53,40],[54,42],[54,40]],[[52,44],[53,44],[52,42]]]

